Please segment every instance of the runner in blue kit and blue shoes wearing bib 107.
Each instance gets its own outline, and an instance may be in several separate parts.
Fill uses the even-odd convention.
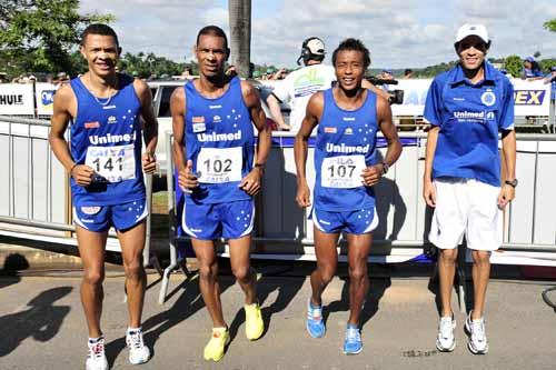
[[[318,127],[315,146],[315,196],[312,222],[317,269],[310,277],[312,294],[307,302],[307,331],[314,338],[325,334],[322,291],[338,264],[336,246],[347,234],[350,314],[344,353],[363,350],[359,317],[369,288],[367,258],[373,230],[378,226],[373,186],[401,153],[391,110],[386,99],[363,88],[370,64],[369,51],[359,41],[347,39],[334,51],[337,87],[315,93],[296,137],[295,158],[298,190],[296,200],[310,206],[306,178],[308,139]],[[376,160],[376,136],[380,129],[388,141],[381,163]]]

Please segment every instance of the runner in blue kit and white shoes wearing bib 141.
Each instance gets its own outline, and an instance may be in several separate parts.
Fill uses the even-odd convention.
[[[80,51],[89,71],[57,91],[49,140],[71,177],[73,221],[85,272],[81,301],[89,328],[86,368],[101,370],[108,369],[100,316],[110,227],[118,233],[126,271],[129,361],[139,364],[150,357],[141,331],[146,286],[142,249],[148,214],[142,172],[156,169],[158,122],[148,86],[116,72],[121,49],[111,28],[89,26]],[[70,143],[64,139],[68,124]],[[141,132],[146,144],[142,154]]]

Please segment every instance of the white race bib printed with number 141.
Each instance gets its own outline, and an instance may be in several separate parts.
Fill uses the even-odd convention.
[[[95,182],[120,182],[136,178],[133,144],[89,147],[85,164],[95,170]]]

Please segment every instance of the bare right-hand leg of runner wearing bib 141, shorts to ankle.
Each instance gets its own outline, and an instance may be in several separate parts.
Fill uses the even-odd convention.
[[[145,248],[145,221],[131,229],[118,231],[121,246],[123,270],[126,272],[126,291],[128,294],[129,327],[141,326],[141,314],[145,300],[147,276],[142,266],[142,250]]]

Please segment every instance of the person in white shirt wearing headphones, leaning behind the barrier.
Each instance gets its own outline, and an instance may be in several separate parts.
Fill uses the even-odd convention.
[[[297,59],[299,66],[301,60],[305,67],[289,73],[267,98],[272,119],[281,130],[297,132],[305,118],[309,98],[317,91],[330,88],[336,81],[334,68],[322,64],[325,43],[319,38],[311,37],[304,41],[301,54]],[[289,102],[291,106],[289,124],[284,121],[281,102]]]

